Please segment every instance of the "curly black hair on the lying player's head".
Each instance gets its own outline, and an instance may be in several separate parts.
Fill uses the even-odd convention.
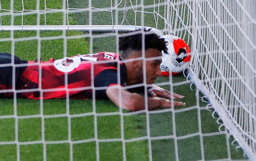
[[[137,29],[135,31],[130,31],[126,33],[132,33],[136,31],[141,31],[141,29]],[[161,38],[156,33],[151,31],[151,29],[144,28],[145,33],[145,50],[149,48],[157,49],[159,51],[163,51],[165,54],[168,54],[166,41],[164,38]],[[123,51],[122,57],[124,59],[128,58],[131,51],[141,51],[142,50],[142,34],[135,33],[132,35],[124,36],[119,38],[119,51]]]

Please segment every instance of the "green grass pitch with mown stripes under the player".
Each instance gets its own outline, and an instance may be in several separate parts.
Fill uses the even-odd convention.
[[[35,10],[36,1],[23,0],[24,9]],[[69,0],[70,8],[87,8],[88,2],[83,0]],[[129,1],[128,1],[129,2]],[[132,1],[135,4],[135,1]],[[22,1],[14,0],[14,10],[22,10]],[[139,2],[140,3],[140,2]],[[144,4],[152,4],[153,1],[144,0]],[[92,0],[92,6],[97,8],[110,7],[108,0]],[[47,8],[62,9],[62,0],[47,0]],[[120,5],[124,6],[124,2]],[[1,0],[2,9],[10,9],[9,0]],[[163,7],[161,7],[163,8]],[[40,0],[40,9],[44,9],[44,1]],[[145,9],[145,11],[152,11],[153,9]],[[4,11],[1,11],[3,13]],[[161,11],[163,12],[163,10]],[[115,15],[115,12],[113,12]],[[137,25],[140,25],[140,12],[137,13]],[[70,14],[70,25],[88,25],[89,13],[87,11]],[[134,25],[134,12],[129,10],[127,12],[129,22]],[[118,12],[118,23],[123,19],[123,11]],[[113,21],[115,22],[115,16]],[[37,15],[25,15],[23,25],[36,25]],[[145,13],[145,26],[155,26],[155,21],[152,21],[152,15]],[[40,24],[44,24],[44,14],[40,16]],[[63,13],[48,13],[46,14],[47,25],[62,25]],[[92,15],[92,24],[112,24],[111,12],[94,12]],[[2,16],[2,25],[11,25],[11,16]],[[21,16],[14,17],[14,25],[21,25]],[[163,27],[162,20],[159,20],[159,26]],[[75,36],[86,34],[81,31],[67,31],[67,36]],[[0,39],[10,38],[11,32],[0,31]],[[57,37],[63,35],[62,31],[41,31],[40,37]],[[36,32],[22,32],[14,31],[14,38],[28,38],[36,36]],[[63,57],[63,42],[62,38],[54,40],[41,40],[41,57],[43,61],[50,58],[59,59]],[[89,53],[90,44],[89,38],[69,39],[67,40],[67,55],[72,56],[76,54]],[[22,59],[36,60],[37,59],[38,42],[34,40],[22,40],[15,42],[14,53]],[[99,51],[116,52],[116,38],[102,37],[93,39],[93,53]],[[0,41],[0,52],[12,53],[12,41]],[[182,75],[173,77],[172,82],[177,83],[185,81],[186,78]],[[169,81],[169,78],[159,77],[157,83]],[[164,86],[170,89],[170,86]],[[182,101],[186,102],[185,107],[175,107],[175,110],[188,109],[188,107],[196,106],[196,93],[190,90],[190,84],[183,84],[173,86],[173,91],[185,96]],[[181,101],[181,100],[180,100]],[[13,115],[13,99],[0,99],[0,116]],[[92,100],[69,100],[69,113],[83,114],[92,113]],[[199,102],[200,108],[206,106],[205,103]],[[157,109],[159,110],[159,109]],[[96,100],[96,113],[118,112],[116,107],[110,100]],[[128,111],[123,111],[128,114]],[[203,147],[200,145],[199,135],[193,137],[182,138],[189,134],[199,132],[198,128],[198,112],[200,112],[201,129],[203,134],[210,134],[219,132],[219,125],[216,119],[212,118],[212,111],[205,109],[198,110],[188,109],[183,112],[175,113],[175,131],[178,146],[178,156],[180,161],[194,161],[202,159],[201,148],[204,149],[205,160],[217,160],[228,158],[228,148],[226,142],[226,135],[212,135],[203,137]],[[51,99],[43,100],[43,113],[45,116],[65,114],[66,99]],[[17,99],[17,115],[38,115],[40,114],[40,101],[29,99]],[[173,135],[174,127],[172,123],[172,112],[153,113],[149,114],[150,136],[168,136]],[[18,141],[20,143],[35,142],[42,140],[41,117],[35,118],[20,118],[18,121]],[[124,115],[124,139],[134,139],[147,136],[146,114]],[[94,116],[88,115],[83,117],[71,118],[71,140],[79,141],[86,139],[93,139],[94,134]],[[97,117],[97,132],[98,139],[114,139],[121,137],[120,115],[98,116]],[[44,140],[51,141],[66,141],[68,140],[68,117],[62,116],[57,118],[44,118]],[[17,145],[16,143],[7,144],[15,141],[15,119],[1,118],[0,119],[0,160],[1,161],[15,161],[17,160]],[[229,144],[232,139],[229,139]],[[2,144],[6,142],[6,144]],[[151,140],[152,158],[154,161],[172,161],[175,160],[175,140],[158,139]],[[92,161],[96,160],[96,143],[90,141],[86,143],[74,143],[72,146],[74,161]],[[29,145],[20,145],[20,161],[42,161],[44,145],[42,143],[35,143]],[[146,161],[149,160],[148,154],[148,139],[140,141],[133,141],[125,143],[125,152],[127,161]],[[235,147],[230,145],[231,159],[244,159],[241,150],[236,151]],[[70,144],[56,143],[46,145],[46,159],[47,161],[68,161],[70,160]],[[102,161],[112,160],[119,161],[123,159],[122,142],[100,142],[99,143],[99,157]]]

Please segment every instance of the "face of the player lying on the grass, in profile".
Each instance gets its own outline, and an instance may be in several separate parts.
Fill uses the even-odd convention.
[[[146,61],[146,81],[147,84],[153,84],[156,78],[161,76],[160,64],[162,62],[162,53],[157,49],[150,48],[145,51],[145,55],[146,58],[158,57],[156,59]],[[140,77],[141,82],[143,82],[143,61],[140,63],[137,77]]]

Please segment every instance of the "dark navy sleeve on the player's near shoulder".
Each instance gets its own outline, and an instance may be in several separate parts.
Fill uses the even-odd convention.
[[[117,70],[116,69],[106,69],[101,71],[94,79],[95,87],[105,87],[102,90],[95,90],[95,95],[97,99],[108,99],[106,94],[106,88],[109,86],[118,85],[117,81]],[[126,79],[120,75],[121,86],[126,86]]]

